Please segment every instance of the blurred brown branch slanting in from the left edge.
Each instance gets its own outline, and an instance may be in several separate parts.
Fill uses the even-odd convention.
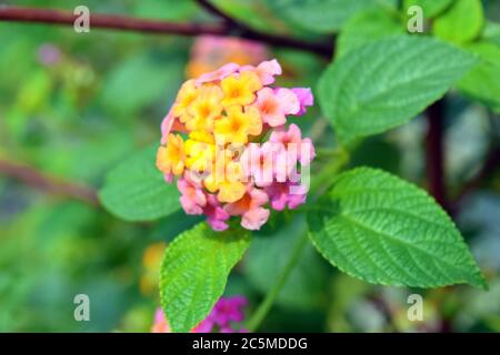
[[[93,189],[51,178],[28,165],[0,160],[0,174],[18,180],[44,193],[77,199],[99,206],[99,199]]]

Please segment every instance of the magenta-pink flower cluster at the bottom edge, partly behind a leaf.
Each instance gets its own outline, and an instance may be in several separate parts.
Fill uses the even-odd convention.
[[[190,333],[246,333],[241,327],[244,320],[243,308],[248,301],[243,296],[221,297],[210,314]],[[157,310],[151,333],[171,333],[169,322],[161,308]]]

